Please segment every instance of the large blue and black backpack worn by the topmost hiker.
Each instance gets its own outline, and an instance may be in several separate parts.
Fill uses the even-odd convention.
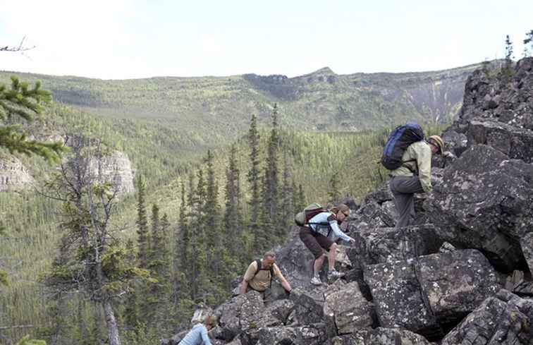
[[[381,164],[388,170],[395,170],[402,166],[402,156],[405,149],[412,143],[424,140],[424,131],[418,123],[408,122],[398,126],[388,135],[387,142],[381,156]]]

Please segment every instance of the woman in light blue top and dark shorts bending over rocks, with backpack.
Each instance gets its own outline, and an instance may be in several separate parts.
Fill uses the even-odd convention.
[[[354,241],[338,227],[349,215],[350,207],[344,204],[331,210],[322,208],[319,204],[312,204],[296,214],[295,223],[300,226],[300,240],[314,256],[311,284],[322,284],[319,272],[326,257],[324,250],[328,251],[328,281],[343,277],[343,273],[335,270],[336,241],[338,238],[347,242]]]

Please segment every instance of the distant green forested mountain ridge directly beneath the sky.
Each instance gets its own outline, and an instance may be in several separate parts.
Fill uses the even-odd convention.
[[[167,131],[180,152],[218,147],[242,135],[251,114],[268,123],[274,103],[281,126],[302,131],[365,131],[406,119],[448,123],[464,83],[480,65],[424,73],[337,75],[329,68],[284,75],[98,80],[16,73],[42,80],[57,102],[108,119],[139,119]],[[13,72],[0,72],[8,83]]]

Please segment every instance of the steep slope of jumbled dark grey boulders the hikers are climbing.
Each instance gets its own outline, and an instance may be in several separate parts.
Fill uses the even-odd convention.
[[[294,229],[277,250],[293,292],[226,301],[214,344],[533,344],[533,58],[474,73],[464,104],[443,133],[458,158],[434,160],[414,226],[393,228],[387,186],[368,195],[343,224],[345,277],[319,287]]]

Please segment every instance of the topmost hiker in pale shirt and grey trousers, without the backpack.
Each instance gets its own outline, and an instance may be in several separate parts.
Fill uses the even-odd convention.
[[[403,152],[403,164],[391,171],[391,192],[398,212],[396,227],[408,226],[415,217],[415,193],[431,192],[431,155],[441,155],[444,142],[439,135],[417,141]]]

